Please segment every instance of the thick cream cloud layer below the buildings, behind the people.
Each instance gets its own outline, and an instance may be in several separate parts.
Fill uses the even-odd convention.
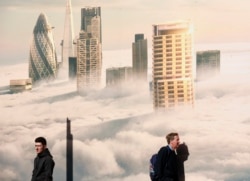
[[[236,62],[249,67],[245,55],[233,55],[231,61],[228,53],[222,55],[223,67]],[[48,139],[54,180],[65,180],[67,117],[74,136],[74,180],[149,180],[149,158],[171,131],[189,147],[187,181],[249,180],[250,71],[227,68],[219,77],[196,82],[194,108],[166,113],[153,111],[148,85],[141,83],[85,97],[76,93],[75,82],[66,81],[0,95],[0,180],[30,179],[37,136]],[[4,75],[1,81],[9,74]]]

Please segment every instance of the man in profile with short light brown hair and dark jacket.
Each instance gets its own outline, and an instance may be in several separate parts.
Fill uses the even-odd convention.
[[[157,175],[160,181],[178,181],[178,164],[176,149],[179,146],[178,133],[166,136],[167,146],[162,147],[157,156]]]

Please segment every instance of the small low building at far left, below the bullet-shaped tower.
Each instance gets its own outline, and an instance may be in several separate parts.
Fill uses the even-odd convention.
[[[10,80],[10,92],[23,92],[32,89],[31,79],[16,79]]]

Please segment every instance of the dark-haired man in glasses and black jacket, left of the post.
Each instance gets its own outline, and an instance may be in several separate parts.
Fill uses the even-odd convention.
[[[43,137],[35,139],[37,156],[34,160],[34,169],[31,181],[53,181],[55,162],[47,148],[47,141]]]

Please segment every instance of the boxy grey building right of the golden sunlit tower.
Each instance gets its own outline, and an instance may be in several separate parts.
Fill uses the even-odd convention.
[[[196,79],[204,80],[220,73],[220,51],[196,52]]]

